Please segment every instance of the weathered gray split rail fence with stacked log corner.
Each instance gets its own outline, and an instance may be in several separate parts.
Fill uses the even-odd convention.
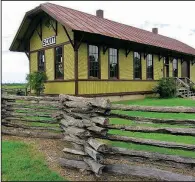
[[[174,113],[195,113],[195,108],[183,107],[143,107],[111,104],[103,98],[83,98],[69,95],[59,97],[2,96],[2,134],[25,137],[60,139],[69,143],[65,147],[64,158],[59,164],[64,167],[92,171],[100,176],[103,172],[153,177],[161,180],[194,181],[192,176],[176,174],[156,168],[106,164],[105,159],[128,158],[131,161],[150,161],[176,168],[195,168],[195,159],[152,152],[134,151],[113,147],[109,141],[122,141],[172,149],[195,151],[195,145],[178,144],[158,140],[109,134],[109,129],[169,133],[173,135],[195,136],[194,128],[150,128],[121,126],[109,123],[109,118],[125,118],[135,122],[182,123],[194,125],[195,120],[165,120],[155,118],[131,117],[112,113],[111,110],[142,110]],[[37,123],[39,125],[37,126]]]

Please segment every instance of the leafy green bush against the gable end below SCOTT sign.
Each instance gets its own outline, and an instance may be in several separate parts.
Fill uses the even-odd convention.
[[[33,72],[26,77],[27,85],[39,96],[44,91],[44,82],[47,80],[45,72]]]

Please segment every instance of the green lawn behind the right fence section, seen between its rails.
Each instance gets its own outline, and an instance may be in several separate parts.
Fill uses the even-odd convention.
[[[114,102],[117,104],[127,104],[127,105],[140,105],[140,106],[187,106],[195,107],[195,101],[189,99],[173,98],[173,99],[159,99],[159,98],[146,98],[143,100],[130,100],[130,101],[120,101]],[[141,111],[112,111],[113,113],[126,114],[129,116],[140,116],[140,117],[149,117],[149,118],[162,118],[162,119],[195,119],[195,114],[186,114],[186,113],[157,113],[157,112],[141,112]],[[135,121],[111,118],[110,124],[119,124],[119,125],[129,125],[129,126],[145,126],[145,127],[168,127],[168,128],[191,128],[195,126],[185,126],[182,124],[169,125],[169,124],[159,124],[159,123],[139,123]],[[195,137],[192,136],[179,136],[179,135],[170,135],[170,134],[160,134],[160,133],[142,133],[142,132],[130,132],[122,130],[109,130],[110,134],[129,136],[142,139],[151,139],[167,142],[176,142],[183,144],[192,144],[195,145]],[[140,145],[127,142],[115,142],[115,141],[106,141],[113,146],[128,148],[132,150],[141,150],[148,152],[158,152],[162,154],[170,155],[179,155],[183,157],[192,157],[195,158],[194,151],[187,150],[178,150],[178,149],[169,149],[164,147],[156,147],[149,145]]]

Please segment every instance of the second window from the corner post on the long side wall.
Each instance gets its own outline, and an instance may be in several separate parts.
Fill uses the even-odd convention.
[[[109,49],[109,77],[118,78],[118,51]]]

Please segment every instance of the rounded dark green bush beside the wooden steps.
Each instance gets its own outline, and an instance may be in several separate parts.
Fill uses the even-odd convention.
[[[161,98],[171,98],[176,96],[177,87],[174,78],[162,78],[154,91],[160,95]]]

